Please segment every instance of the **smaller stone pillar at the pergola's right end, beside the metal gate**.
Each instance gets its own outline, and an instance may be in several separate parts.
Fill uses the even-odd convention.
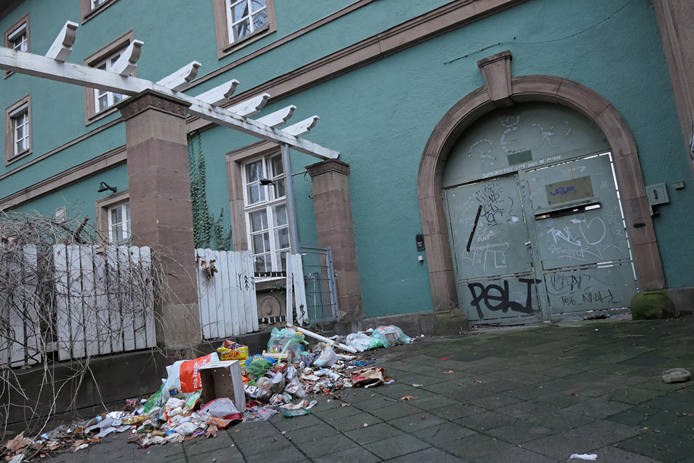
[[[349,165],[338,160],[326,160],[307,166],[306,170],[311,176],[318,244],[332,248],[341,319],[363,319],[357,244],[347,180]]]

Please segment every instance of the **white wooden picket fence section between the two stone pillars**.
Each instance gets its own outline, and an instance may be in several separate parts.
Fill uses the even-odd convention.
[[[253,254],[250,251],[195,251],[203,339],[257,331]]]

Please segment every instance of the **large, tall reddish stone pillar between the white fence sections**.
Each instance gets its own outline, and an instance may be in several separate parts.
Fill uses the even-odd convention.
[[[130,226],[135,246],[162,257],[169,284],[157,338],[167,346],[199,342],[195,245],[185,102],[146,90],[119,103],[126,121]]]

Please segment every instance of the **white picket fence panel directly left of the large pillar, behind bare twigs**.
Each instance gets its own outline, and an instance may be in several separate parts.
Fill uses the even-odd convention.
[[[60,360],[157,344],[151,249],[53,248]]]

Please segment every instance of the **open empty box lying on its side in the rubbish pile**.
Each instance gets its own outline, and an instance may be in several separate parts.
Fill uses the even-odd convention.
[[[203,403],[215,398],[228,397],[240,413],[246,410],[246,393],[241,366],[238,360],[210,362],[198,369],[203,385],[201,398]]]

